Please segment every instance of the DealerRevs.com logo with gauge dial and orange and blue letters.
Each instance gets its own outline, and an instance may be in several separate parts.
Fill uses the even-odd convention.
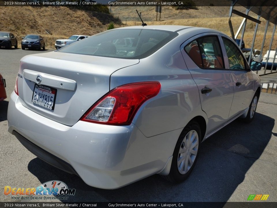
[[[75,192],[76,189],[69,189],[62,181],[48,181],[36,188],[4,187],[4,194],[11,195],[13,200],[68,200],[69,196],[75,195]]]

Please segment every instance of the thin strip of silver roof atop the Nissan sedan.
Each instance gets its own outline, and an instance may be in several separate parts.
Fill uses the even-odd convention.
[[[138,28],[138,29],[160,29],[160,30],[167,30],[167,31],[172,31],[172,32],[178,32],[178,31],[182,31],[185,29],[190,29],[190,31],[192,30],[199,30],[201,29],[201,31],[204,32],[217,32],[220,34],[224,34],[220,31],[214,30],[214,29],[209,29],[209,28],[204,28],[204,27],[192,27],[192,26],[184,26],[184,25],[147,25],[147,26],[130,26],[130,27],[120,27],[117,29],[129,29],[129,28]]]

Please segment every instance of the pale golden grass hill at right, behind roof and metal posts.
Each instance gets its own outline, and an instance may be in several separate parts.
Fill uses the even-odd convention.
[[[133,26],[141,25],[141,21],[136,13],[136,9],[141,12],[141,16],[147,25],[188,25],[193,27],[207,27],[222,31],[227,35],[231,36],[228,20],[229,20],[229,10],[230,7],[197,7],[198,10],[175,10],[172,7],[163,7],[161,13],[161,21],[156,21],[155,7],[112,7],[111,13],[115,17],[119,17],[122,20],[123,25]],[[235,7],[245,13],[245,8]],[[257,17],[254,13],[250,12],[250,16]],[[239,25],[242,22],[242,17],[233,15],[231,18],[234,32],[236,33]],[[159,13],[158,13],[159,20]],[[261,18],[261,25],[258,27],[258,32],[255,40],[254,49],[261,49],[261,43],[263,40],[264,30],[265,30],[265,19]],[[253,32],[256,23],[247,21],[246,31],[244,34],[244,42],[246,47],[251,47],[253,40]],[[272,35],[273,25],[269,25],[267,30],[267,36],[265,41],[265,47],[263,49],[263,54],[268,50],[269,43]],[[277,32],[275,33],[277,34]],[[240,34],[238,36],[240,38]],[[277,46],[277,38],[273,41],[272,49]]]

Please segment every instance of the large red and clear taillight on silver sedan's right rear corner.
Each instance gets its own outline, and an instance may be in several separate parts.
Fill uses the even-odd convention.
[[[119,86],[95,103],[82,121],[109,125],[130,125],[139,107],[156,96],[161,88],[157,81]]]

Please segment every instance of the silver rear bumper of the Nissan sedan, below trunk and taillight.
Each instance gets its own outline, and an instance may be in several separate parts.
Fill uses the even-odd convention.
[[[66,126],[27,109],[14,92],[8,106],[8,126],[33,154],[78,174],[88,185],[104,189],[119,188],[162,171],[175,146],[170,147],[168,138],[179,134],[172,131],[146,138],[134,124],[78,121]]]

